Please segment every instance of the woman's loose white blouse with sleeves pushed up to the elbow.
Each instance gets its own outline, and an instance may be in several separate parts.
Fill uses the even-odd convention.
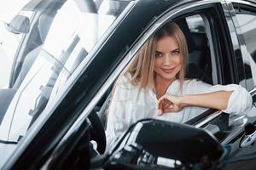
[[[228,107],[224,112],[230,114],[243,114],[251,108],[252,97],[245,88],[237,84],[215,85],[212,86],[205,82],[195,79],[183,82],[183,89],[180,89],[179,81],[172,82],[167,89],[167,94],[186,95],[186,94],[205,94],[218,90],[233,91],[230,95]],[[157,109],[158,99],[152,88],[141,89],[133,86],[129,77],[120,77],[116,83],[113,98],[108,110],[107,124],[107,147],[118,139],[131,124],[143,118],[155,118],[171,122],[187,122],[189,119],[207,111],[207,108],[189,106],[182,111],[165,113],[159,116]]]

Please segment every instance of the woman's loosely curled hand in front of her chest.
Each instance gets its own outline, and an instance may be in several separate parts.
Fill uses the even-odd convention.
[[[165,94],[158,100],[158,109],[160,116],[166,112],[177,112],[183,109],[181,97]]]

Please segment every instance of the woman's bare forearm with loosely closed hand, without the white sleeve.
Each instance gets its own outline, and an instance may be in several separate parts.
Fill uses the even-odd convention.
[[[165,112],[177,112],[186,106],[200,106],[218,110],[227,109],[231,91],[217,91],[207,94],[174,96],[165,94],[159,99],[160,115]]]

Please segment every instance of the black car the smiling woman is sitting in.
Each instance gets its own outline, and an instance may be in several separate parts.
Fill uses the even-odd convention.
[[[32,4],[38,9],[52,4],[56,14],[2,115],[2,169],[255,168],[255,1]],[[241,116],[209,109],[185,124],[144,119],[106,150],[114,82],[148,37],[170,21],[188,42],[186,77],[240,84],[252,94],[252,108]]]

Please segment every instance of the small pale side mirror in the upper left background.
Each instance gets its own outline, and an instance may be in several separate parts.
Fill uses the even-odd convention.
[[[8,31],[15,34],[26,34],[30,30],[30,20],[26,16],[17,14],[10,23],[5,23],[5,26]]]

